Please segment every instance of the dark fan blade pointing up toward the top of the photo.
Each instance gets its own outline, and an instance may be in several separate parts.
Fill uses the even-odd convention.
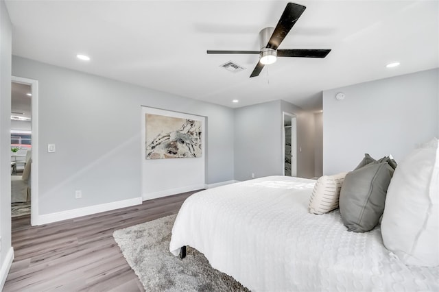
[[[306,7],[298,5],[296,3],[288,3],[281,19],[274,28],[274,32],[270,40],[268,40],[268,49],[277,49],[281,42],[287,36],[288,32],[292,29],[293,25],[299,19],[300,15],[305,11]]]

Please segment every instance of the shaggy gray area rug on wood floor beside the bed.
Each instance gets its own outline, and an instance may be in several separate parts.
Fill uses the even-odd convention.
[[[145,291],[249,291],[213,269],[197,250],[187,247],[180,259],[169,252],[176,215],[116,230],[115,241]]]

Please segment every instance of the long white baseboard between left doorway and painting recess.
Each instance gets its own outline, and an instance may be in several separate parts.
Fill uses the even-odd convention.
[[[72,219],[76,217],[82,217],[86,215],[92,215],[99,212],[106,212],[110,210],[116,210],[119,208],[125,208],[142,204],[141,197],[134,197],[133,199],[124,199],[122,201],[110,202],[106,204],[100,204],[95,206],[88,206],[84,208],[78,208],[73,210],[67,210],[62,212],[55,212],[45,215],[38,215],[36,225],[43,225],[47,223],[53,223],[57,221]]]

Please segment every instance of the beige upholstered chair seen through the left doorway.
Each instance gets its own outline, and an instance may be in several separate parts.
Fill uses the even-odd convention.
[[[27,151],[27,154],[23,175],[11,175],[11,203],[27,202],[30,199],[30,169],[32,165],[30,150]]]

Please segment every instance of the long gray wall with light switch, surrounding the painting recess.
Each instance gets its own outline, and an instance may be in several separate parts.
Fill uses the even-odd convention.
[[[12,75],[38,80],[39,215],[141,197],[141,106],[207,117],[206,183],[233,180],[231,108],[16,56]]]

